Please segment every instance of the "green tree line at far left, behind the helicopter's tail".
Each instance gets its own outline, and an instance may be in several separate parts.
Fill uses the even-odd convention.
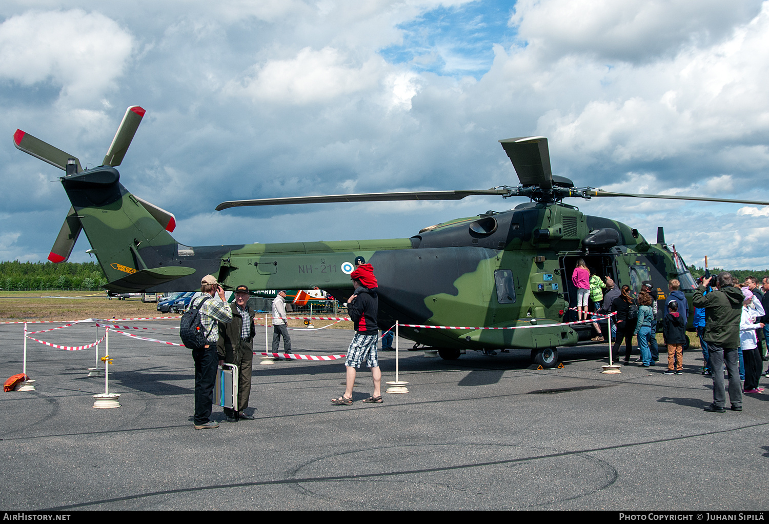
[[[98,291],[106,283],[96,262],[0,262],[3,291]]]

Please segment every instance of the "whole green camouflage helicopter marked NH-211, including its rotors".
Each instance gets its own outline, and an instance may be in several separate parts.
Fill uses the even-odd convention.
[[[129,107],[102,165],[82,169],[80,161],[18,130],[14,144],[65,171],[60,177],[72,207],[48,259],[68,259],[81,231],[105,272],[109,292],[164,292],[196,289],[203,275],[215,275],[227,290],[310,289],[318,285],[335,296],[353,289],[350,273],[358,256],[374,268],[379,282],[379,326],[401,324],[457,326],[455,329],[404,327],[400,335],[437,349],[443,359],[469,350],[518,349],[544,368],[558,364],[558,347],[591,336],[589,324],[570,323],[576,289],[571,273],[584,259],[595,274],[610,276],[634,292],[651,282],[664,300],[669,279],[691,295],[696,285],[681,256],[658,229],[651,244],[637,229],[585,215],[567,198],[631,197],[769,205],[769,202],[693,196],[644,195],[574,187],[553,175],[544,136],[503,139],[520,185],[462,191],[364,193],[297,196],[222,202],[216,209],[251,205],[395,200],[458,200],[471,195],[525,197],[506,211],[452,219],[421,229],[408,239],[283,242],[190,246],[171,236],[175,216],[128,192],[120,165],[145,110]],[[664,312],[664,307],[659,308]],[[532,329],[476,329],[460,326],[535,326]]]

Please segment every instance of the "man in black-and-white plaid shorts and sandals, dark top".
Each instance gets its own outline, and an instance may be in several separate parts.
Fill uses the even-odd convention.
[[[374,393],[363,402],[382,403],[380,390],[382,373],[377,361],[379,299],[376,291],[368,289],[361,284],[360,271],[360,269],[355,269],[350,274],[357,295],[353,294],[348,299],[347,311],[355,325],[355,337],[350,342],[350,347],[347,350],[347,361],[345,362],[347,388],[342,396],[331,399],[331,403],[337,406],[350,406],[352,404],[352,386],[355,384],[355,372],[357,368],[361,367],[364,359],[366,365],[371,369],[371,376],[374,379]]]

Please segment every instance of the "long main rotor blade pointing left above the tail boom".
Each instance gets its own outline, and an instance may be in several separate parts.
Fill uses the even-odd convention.
[[[399,193],[357,193],[354,195],[290,196],[281,199],[231,200],[221,202],[217,211],[241,205],[325,204],[328,202],[391,202],[394,200],[461,200],[471,195],[509,195],[510,189],[468,191],[409,191]]]

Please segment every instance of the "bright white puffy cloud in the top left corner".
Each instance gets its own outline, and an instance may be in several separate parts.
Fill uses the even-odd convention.
[[[98,12],[25,12],[0,25],[0,78],[52,82],[72,103],[96,102],[117,87],[134,42]]]

